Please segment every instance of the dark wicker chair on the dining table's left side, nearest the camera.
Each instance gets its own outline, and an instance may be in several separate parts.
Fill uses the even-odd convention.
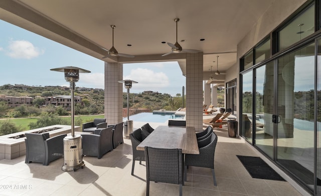
[[[137,150],[136,147],[142,142],[143,136],[141,129],[136,129],[132,133],[129,134],[131,140],[132,147],[132,166],[131,166],[131,175],[134,175],[134,167],[135,161],[139,160],[139,164],[141,161],[145,160],[145,152],[143,150]]]

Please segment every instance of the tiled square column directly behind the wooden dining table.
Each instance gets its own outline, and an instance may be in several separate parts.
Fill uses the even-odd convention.
[[[203,53],[186,54],[186,123],[203,129]]]

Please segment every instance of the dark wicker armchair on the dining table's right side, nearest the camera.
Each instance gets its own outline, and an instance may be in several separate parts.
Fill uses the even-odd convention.
[[[216,143],[217,135],[213,132],[209,137],[198,141],[200,154],[185,154],[185,180],[187,180],[187,166],[207,167],[212,169],[214,185],[217,185],[214,172]]]

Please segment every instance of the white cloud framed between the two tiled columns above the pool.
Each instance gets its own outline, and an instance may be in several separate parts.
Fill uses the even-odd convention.
[[[134,80],[138,84],[134,84],[136,89],[150,90],[156,88],[165,88],[170,85],[168,76],[163,72],[154,72],[149,69],[132,69],[128,76],[123,77],[124,80]]]

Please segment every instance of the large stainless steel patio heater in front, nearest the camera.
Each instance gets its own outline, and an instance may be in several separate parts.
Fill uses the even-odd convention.
[[[76,171],[85,166],[82,160],[81,135],[75,135],[75,109],[74,91],[75,82],[79,80],[79,73],[90,73],[90,71],[78,67],[61,67],[50,69],[51,71],[65,72],[65,80],[70,83],[71,91],[71,136],[64,138],[64,165],[63,171]]]

